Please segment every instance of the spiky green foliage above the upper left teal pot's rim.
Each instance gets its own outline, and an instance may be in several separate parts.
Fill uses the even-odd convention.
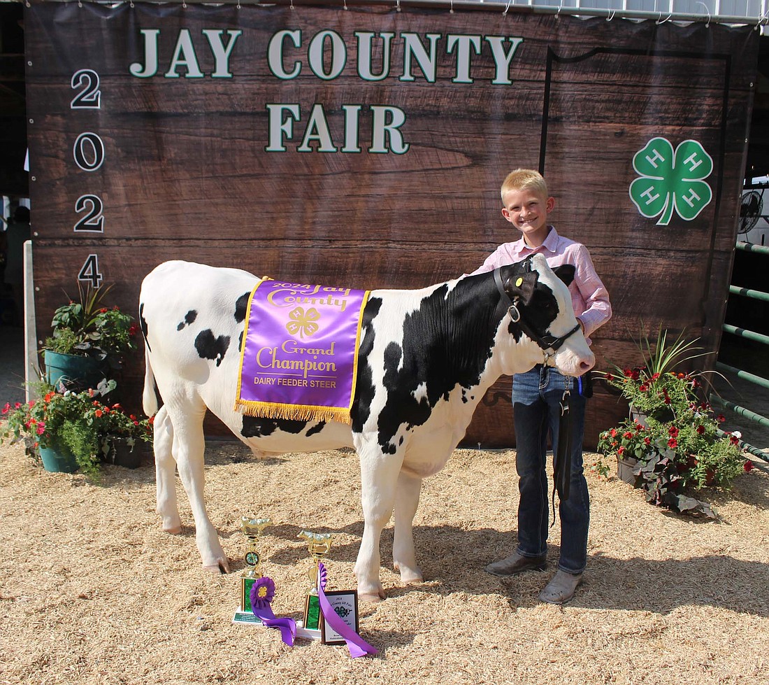
[[[55,310],[52,335],[45,339],[45,349],[80,356],[120,356],[136,348],[138,326],[131,316],[117,306],[104,306],[112,286],[85,289],[78,282],[80,301],[70,300]]]

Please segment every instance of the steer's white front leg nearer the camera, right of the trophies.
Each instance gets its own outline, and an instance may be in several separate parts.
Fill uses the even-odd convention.
[[[361,503],[363,505],[363,539],[355,562],[358,597],[364,602],[384,600],[379,581],[379,540],[395,503],[395,484],[401,470],[402,457],[383,454],[377,443],[355,445],[361,458]]]

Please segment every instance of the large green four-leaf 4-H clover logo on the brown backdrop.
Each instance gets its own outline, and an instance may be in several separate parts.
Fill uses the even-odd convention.
[[[633,169],[641,178],[630,184],[631,200],[647,219],[659,216],[657,226],[667,226],[673,212],[691,221],[713,199],[703,180],[713,172],[713,159],[696,140],[674,151],[667,139],[653,138],[635,153]]]

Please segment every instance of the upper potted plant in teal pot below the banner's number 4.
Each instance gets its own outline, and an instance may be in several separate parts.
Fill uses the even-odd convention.
[[[120,368],[122,355],[136,348],[138,326],[117,306],[105,306],[112,286],[85,289],[80,301],[55,310],[52,334],[43,346],[45,377],[57,389],[82,390]]]

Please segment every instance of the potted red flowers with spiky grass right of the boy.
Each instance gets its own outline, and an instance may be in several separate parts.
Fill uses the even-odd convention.
[[[729,486],[752,463],[742,456],[739,433],[724,433],[711,406],[697,396],[704,372],[676,371],[694,359],[695,340],[683,333],[669,345],[660,331],[654,349],[645,339],[644,366],[608,373],[606,381],[628,400],[631,417],[599,436],[598,452],[615,457],[619,476],[641,488],[650,503],[713,516],[711,507],[686,491]],[[603,458],[595,466],[608,475]]]

